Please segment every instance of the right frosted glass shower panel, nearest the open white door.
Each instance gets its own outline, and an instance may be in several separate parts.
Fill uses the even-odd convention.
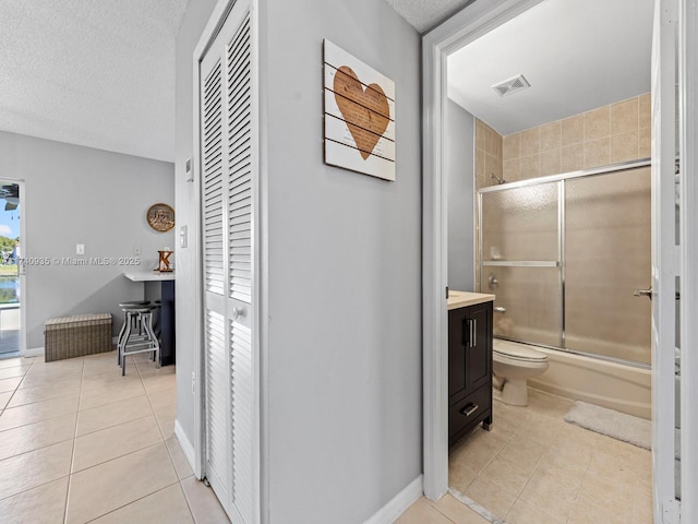
[[[565,182],[565,347],[650,364],[649,167]]]

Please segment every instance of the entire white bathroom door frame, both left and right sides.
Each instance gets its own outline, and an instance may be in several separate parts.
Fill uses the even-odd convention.
[[[422,119],[423,119],[423,235],[422,235],[422,357],[423,357],[423,455],[424,495],[437,500],[448,490],[447,438],[447,187],[444,123],[447,102],[446,64],[450,52],[477,39],[492,28],[519,15],[541,0],[493,0],[474,2],[424,35],[422,39]],[[698,53],[686,52],[698,44],[698,7],[681,3],[679,69],[681,111],[684,119],[682,140],[682,318],[698,314],[698,272],[690,263],[698,260],[698,183],[686,172],[696,169],[695,153],[698,130],[693,117],[698,110],[696,78]],[[687,325],[688,324],[688,325]],[[698,323],[682,323],[682,347],[698,346]],[[654,377],[657,380],[657,377]],[[698,395],[698,355],[683,352],[682,398]],[[698,450],[688,446],[690,436],[698,434],[698,414],[683,403],[682,409],[682,486],[690,493],[698,486]],[[690,412],[690,413],[689,413]],[[673,449],[673,442],[672,442]],[[682,504],[685,522],[698,519],[698,501],[685,498]]]

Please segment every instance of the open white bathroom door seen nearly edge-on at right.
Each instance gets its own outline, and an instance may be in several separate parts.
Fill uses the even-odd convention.
[[[655,0],[652,41],[652,458],[654,522],[678,523],[674,481],[677,0]]]

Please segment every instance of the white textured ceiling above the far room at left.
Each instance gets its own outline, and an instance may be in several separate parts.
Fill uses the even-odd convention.
[[[0,0],[0,130],[174,157],[189,0]]]

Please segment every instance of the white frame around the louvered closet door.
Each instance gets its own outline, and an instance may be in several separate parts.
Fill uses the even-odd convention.
[[[253,393],[255,406],[253,408],[254,417],[254,456],[253,472],[254,478],[254,523],[267,523],[268,517],[268,431],[267,431],[267,414],[268,414],[268,395],[266,394],[266,384],[268,384],[268,367],[267,367],[267,318],[268,318],[268,226],[267,226],[267,170],[266,154],[267,142],[266,132],[260,122],[265,120],[265,108],[267,99],[266,90],[266,70],[260,59],[265,55],[262,48],[265,41],[261,32],[264,31],[262,22],[265,20],[264,13],[266,5],[264,0],[249,0],[250,3],[250,23],[252,28],[251,43],[251,61],[252,61],[252,88],[256,91],[256,103],[253,97],[252,107],[252,129],[256,130],[253,134],[253,155],[256,156],[258,166],[256,191],[253,189],[253,206],[256,209],[257,225],[254,228],[254,238],[252,241],[253,250],[253,271],[256,278],[252,288],[252,306],[253,309],[253,352],[256,354],[253,373],[256,377],[256,389]],[[218,35],[222,24],[226,22],[228,13],[236,4],[236,0],[217,0],[208,22],[206,23],[198,43],[194,48],[192,56],[192,109],[193,109],[193,147],[192,147],[192,170],[194,182],[194,201],[196,206],[195,224],[193,230],[196,237],[203,238],[203,207],[202,207],[202,171],[201,171],[201,75],[200,63],[205,56],[208,47],[213,44]],[[194,377],[196,384],[196,402],[194,405],[194,475],[197,478],[206,476],[206,366],[205,366],[205,333],[204,333],[204,286],[203,286],[203,243],[197,242],[198,253],[195,265],[195,309],[198,314],[193,319],[196,333],[196,359],[194,367]],[[253,524],[253,523],[251,523]]]

